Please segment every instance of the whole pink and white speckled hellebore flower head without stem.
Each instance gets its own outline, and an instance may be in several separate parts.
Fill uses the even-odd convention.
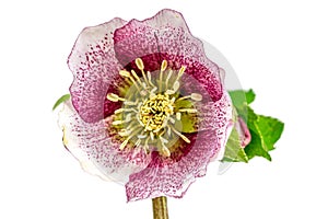
[[[86,171],[124,184],[128,201],[183,197],[223,157],[234,126],[224,70],[180,13],[86,27],[68,65],[63,143]]]

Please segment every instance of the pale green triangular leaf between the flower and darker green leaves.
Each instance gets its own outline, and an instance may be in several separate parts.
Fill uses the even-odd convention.
[[[248,162],[247,154],[241,147],[239,136],[235,128],[233,128],[230,138],[226,142],[224,158],[222,161],[246,163]]]

